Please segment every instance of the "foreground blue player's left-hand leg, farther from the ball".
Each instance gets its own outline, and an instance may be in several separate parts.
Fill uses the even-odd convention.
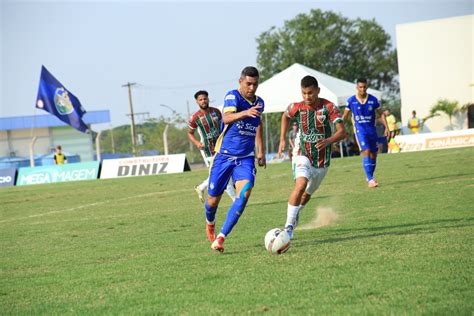
[[[215,223],[217,207],[221,200],[222,194],[232,175],[233,166],[229,164],[227,158],[216,155],[209,173],[208,198],[204,203],[204,209],[207,222],[207,237],[210,241],[215,239]]]

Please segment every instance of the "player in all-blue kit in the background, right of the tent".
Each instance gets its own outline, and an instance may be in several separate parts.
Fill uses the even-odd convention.
[[[369,188],[378,186],[374,178],[374,171],[377,165],[377,131],[375,129],[376,113],[380,114],[381,121],[385,126],[385,136],[388,136],[387,121],[385,114],[380,109],[380,103],[376,97],[367,93],[367,80],[357,79],[357,93],[347,100],[347,107],[344,110],[343,120],[347,121],[352,112],[352,124],[354,125],[354,135],[359,144],[360,152],[363,156],[362,163],[367,176]]]

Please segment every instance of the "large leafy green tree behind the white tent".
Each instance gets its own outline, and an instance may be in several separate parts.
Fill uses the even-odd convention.
[[[313,9],[270,28],[257,38],[257,63],[263,80],[301,63],[331,76],[398,94],[398,66],[390,36],[375,20],[350,20]]]

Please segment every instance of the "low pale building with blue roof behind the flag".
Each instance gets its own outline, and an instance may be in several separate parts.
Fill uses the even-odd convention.
[[[90,111],[83,117],[87,125],[110,122],[110,112]],[[61,145],[66,154],[79,155],[80,161],[94,160],[92,134],[81,133],[57,117],[47,115],[0,118],[0,157],[30,157],[30,144],[35,155],[47,155]]]

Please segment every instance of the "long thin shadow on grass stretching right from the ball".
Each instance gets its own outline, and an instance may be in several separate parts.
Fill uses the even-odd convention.
[[[347,237],[335,237],[335,238],[328,238],[328,239],[323,239],[323,240],[301,240],[300,242],[298,242],[298,244],[304,246],[304,245],[314,245],[314,244],[330,244],[330,243],[337,243],[337,242],[343,242],[343,241],[358,240],[358,239],[365,239],[365,238],[376,238],[376,237],[383,237],[383,236],[406,236],[406,235],[418,235],[418,234],[432,234],[432,233],[437,232],[440,229],[462,228],[462,227],[474,226],[474,223],[471,223],[473,220],[474,218],[471,217],[471,218],[462,218],[462,219],[446,219],[446,220],[439,220],[439,221],[428,221],[428,222],[404,224],[404,225],[373,227],[373,228],[366,228],[364,230],[366,230],[367,232],[372,232],[372,231],[392,229],[392,228],[405,228],[405,229],[398,230],[398,231],[377,232],[377,233],[372,233],[372,234],[355,235],[355,236],[347,236]],[[464,223],[461,223],[461,222],[464,222]],[[459,223],[459,224],[417,227],[417,226],[439,224],[439,223],[441,224]],[[361,230],[359,229],[359,230],[345,230],[345,231],[348,232],[348,231],[361,231]]]

